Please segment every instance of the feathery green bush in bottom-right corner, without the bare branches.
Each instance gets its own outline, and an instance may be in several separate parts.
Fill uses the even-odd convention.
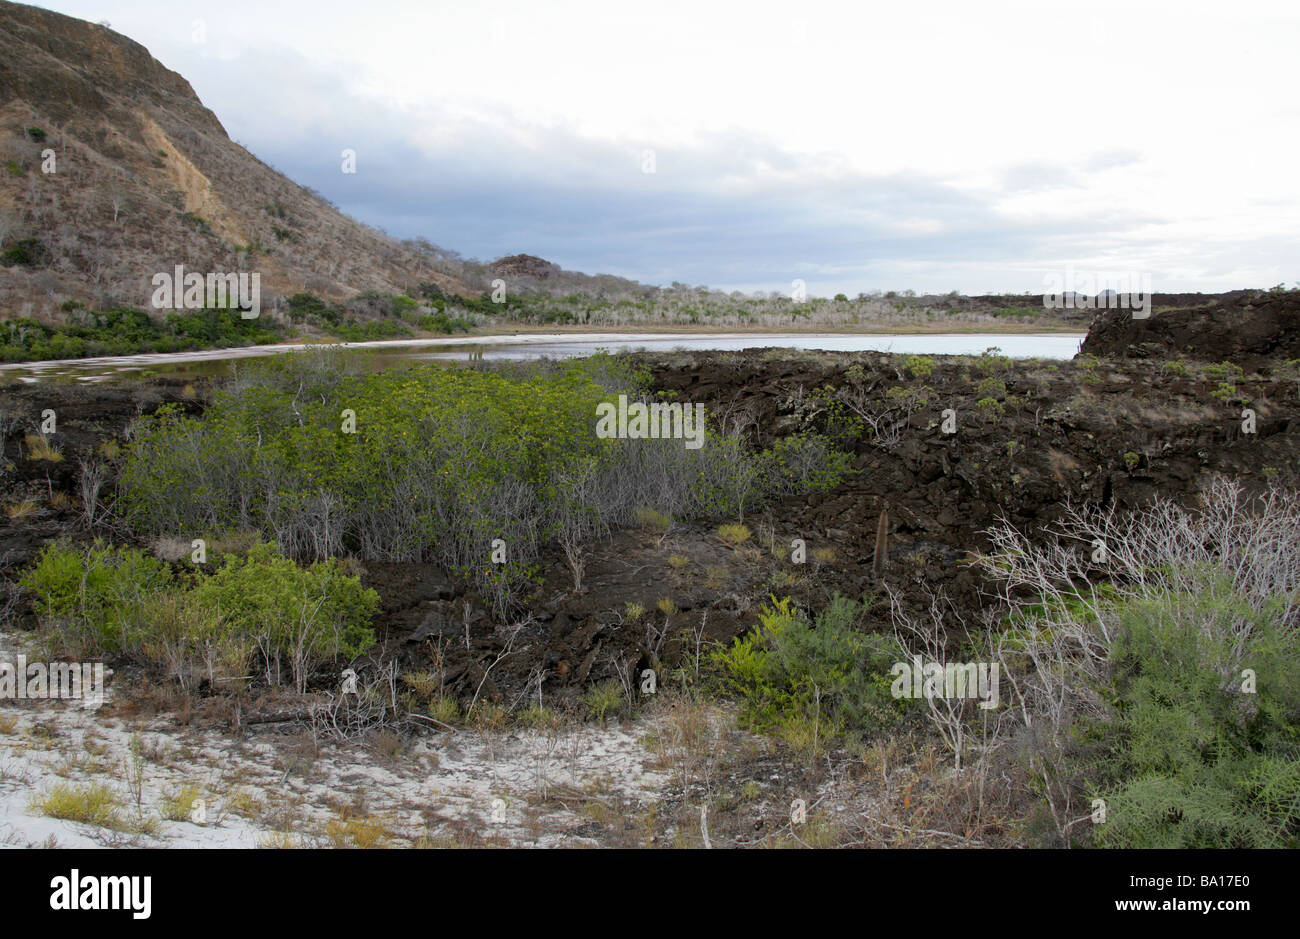
[[[1300,847],[1300,649],[1231,584],[1114,609],[1110,704],[1087,723],[1102,847]],[[1254,691],[1243,691],[1243,670]]]

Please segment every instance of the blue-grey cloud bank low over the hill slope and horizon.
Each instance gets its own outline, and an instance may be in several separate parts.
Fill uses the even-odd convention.
[[[1009,220],[994,209],[996,194],[982,198],[919,174],[852,173],[835,157],[725,129],[686,150],[592,140],[564,126],[528,126],[520,142],[521,121],[510,112],[467,118],[436,104],[386,108],[361,99],[346,73],[283,49],[196,60],[186,72],[231,137],[281,172],[394,235],[422,235],[467,256],[524,251],[589,273],[723,289],[783,289],[806,277],[815,293],[1023,290],[1037,284],[1023,274],[1034,259],[1095,256],[1121,248],[1126,231],[1160,222],[1105,205],[1086,226]],[[339,172],[344,147],[358,151],[355,176]],[[641,173],[644,148],[655,150],[653,176]],[[1084,168],[1135,159],[1113,151]],[[768,172],[755,173],[759,166]],[[1022,165],[1005,182],[1032,190],[1074,178],[1069,168]],[[915,264],[935,271],[927,277],[937,282],[879,280]],[[944,265],[983,265],[989,282],[953,284]],[[837,273],[809,276],[823,269]]]

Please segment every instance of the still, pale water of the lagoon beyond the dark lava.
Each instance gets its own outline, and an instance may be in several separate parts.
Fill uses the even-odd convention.
[[[905,355],[979,355],[997,346],[1015,359],[1069,359],[1079,351],[1082,333],[931,333],[915,336],[844,333],[521,333],[438,339],[348,342],[344,349],[368,350],[378,367],[412,360],[464,359],[481,351],[484,359],[567,359],[590,355],[598,349],[623,350],[737,350],[822,349],[836,352],[901,352]],[[0,364],[0,378],[40,381],[104,381],[133,375],[179,378],[221,376],[233,363],[260,355],[306,349],[303,345],[250,346],[204,352],[118,355],[100,359]]]

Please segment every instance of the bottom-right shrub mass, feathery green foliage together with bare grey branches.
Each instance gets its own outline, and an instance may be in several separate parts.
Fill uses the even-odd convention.
[[[1196,509],[1070,507],[1060,531],[1122,545],[1109,583],[1009,524],[980,559],[1041,598],[994,654],[1023,714],[1001,743],[1057,843],[1300,847],[1300,494],[1214,479]]]

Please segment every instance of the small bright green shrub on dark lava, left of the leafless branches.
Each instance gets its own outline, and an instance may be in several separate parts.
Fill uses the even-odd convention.
[[[727,688],[741,697],[754,730],[816,722],[823,739],[871,736],[900,723],[907,701],[889,691],[889,668],[905,658],[893,636],[859,632],[862,605],[836,594],[815,622],[772,598],[759,626],[715,652]]]

